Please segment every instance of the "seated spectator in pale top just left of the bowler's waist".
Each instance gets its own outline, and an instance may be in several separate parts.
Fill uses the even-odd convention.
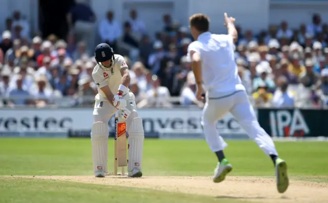
[[[196,105],[199,108],[204,107],[202,101],[198,101],[196,98],[196,81],[194,73],[191,71],[188,73],[186,86],[182,88],[180,96],[180,104],[183,107],[189,107],[191,105]]]

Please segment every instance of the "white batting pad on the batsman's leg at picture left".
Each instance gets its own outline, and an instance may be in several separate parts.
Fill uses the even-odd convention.
[[[108,173],[108,135],[108,126],[104,122],[96,122],[92,125],[91,144],[94,172],[103,170]]]

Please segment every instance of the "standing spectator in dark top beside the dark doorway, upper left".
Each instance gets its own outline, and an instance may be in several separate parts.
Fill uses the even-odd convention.
[[[76,5],[67,14],[69,29],[74,33],[77,42],[86,42],[86,49],[91,50],[94,44],[94,26],[96,16],[88,1],[75,0]]]

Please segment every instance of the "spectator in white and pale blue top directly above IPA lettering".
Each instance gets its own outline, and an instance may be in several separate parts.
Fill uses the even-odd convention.
[[[273,95],[273,107],[275,108],[293,108],[294,93],[288,91],[288,80],[284,76],[278,78],[277,90]]]

